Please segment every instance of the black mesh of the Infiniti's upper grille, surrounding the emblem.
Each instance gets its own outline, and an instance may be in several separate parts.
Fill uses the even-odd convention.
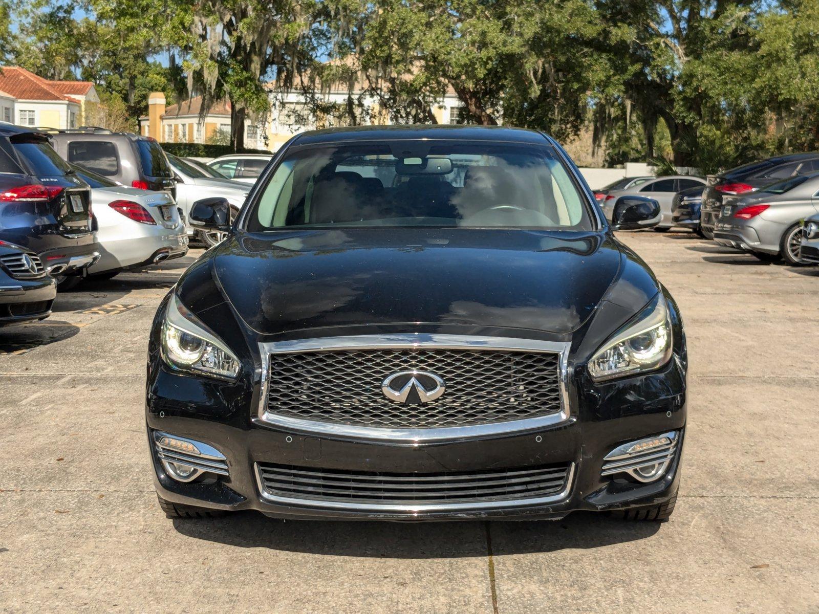
[[[560,354],[437,347],[365,348],[269,354],[269,415],[360,427],[462,427],[558,414]],[[382,393],[396,372],[432,372],[446,392],[424,404]]]

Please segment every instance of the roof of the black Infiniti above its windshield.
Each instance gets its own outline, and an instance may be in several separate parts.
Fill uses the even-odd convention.
[[[321,145],[324,143],[355,141],[417,141],[459,140],[488,142],[523,142],[536,145],[547,143],[545,136],[535,130],[509,128],[508,126],[462,126],[462,125],[397,125],[356,126],[355,128],[329,128],[301,133],[292,146]]]

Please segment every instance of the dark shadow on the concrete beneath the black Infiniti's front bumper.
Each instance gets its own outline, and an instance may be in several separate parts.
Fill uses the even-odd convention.
[[[280,521],[259,512],[235,512],[205,520],[174,520],[182,535],[197,540],[285,552],[364,558],[461,558],[591,549],[645,540],[657,522],[614,520],[576,512],[559,521]]]

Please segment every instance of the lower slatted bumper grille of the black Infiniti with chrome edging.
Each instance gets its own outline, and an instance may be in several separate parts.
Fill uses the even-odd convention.
[[[562,499],[571,463],[473,472],[391,473],[256,463],[266,499],[330,507],[423,509]],[[531,503],[531,502],[530,502]]]

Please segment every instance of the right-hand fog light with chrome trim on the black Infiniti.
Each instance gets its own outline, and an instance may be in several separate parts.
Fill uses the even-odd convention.
[[[625,473],[640,482],[658,480],[665,475],[674,458],[678,440],[679,431],[668,431],[618,445],[605,455],[600,475],[606,477]]]

